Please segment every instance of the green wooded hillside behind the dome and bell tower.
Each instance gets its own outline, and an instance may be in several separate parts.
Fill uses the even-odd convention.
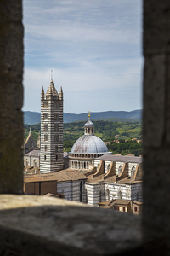
[[[142,154],[142,143],[137,143],[133,138],[141,139],[141,124],[120,123],[109,121],[94,121],[95,135],[100,137],[113,154]],[[28,133],[32,131],[32,136],[37,142],[40,131],[40,124],[25,125],[25,140]],[[84,121],[64,124],[64,150],[71,151],[71,147],[79,137],[84,134]],[[119,143],[118,143],[119,142]]]

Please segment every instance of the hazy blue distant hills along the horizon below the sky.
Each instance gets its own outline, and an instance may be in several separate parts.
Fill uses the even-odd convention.
[[[64,123],[71,123],[76,121],[85,121],[88,119],[88,113],[64,113]],[[125,122],[134,119],[142,119],[142,110],[127,111],[106,111],[106,112],[91,112],[92,120],[110,120]],[[38,124],[41,121],[41,113],[25,111],[24,123],[27,125]]]

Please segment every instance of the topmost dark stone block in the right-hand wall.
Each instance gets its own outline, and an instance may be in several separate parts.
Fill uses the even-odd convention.
[[[170,2],[144,0],[144,56],[170,53]]]

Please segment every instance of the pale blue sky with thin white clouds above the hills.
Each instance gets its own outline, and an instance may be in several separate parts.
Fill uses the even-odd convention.
[[[141,0],[25,0],[24,111],[64,91],[65,113],[142,108]]]

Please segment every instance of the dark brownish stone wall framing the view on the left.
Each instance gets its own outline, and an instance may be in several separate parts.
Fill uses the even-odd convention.
[[[0,193],[22,193],[22,1],[0,0]]]

